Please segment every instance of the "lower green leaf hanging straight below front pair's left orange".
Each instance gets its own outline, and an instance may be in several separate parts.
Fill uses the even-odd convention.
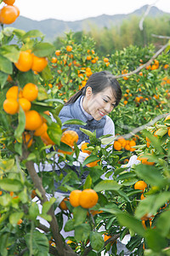
[[[89,224],[80,224],[75,228],[75,239],[79,241],[87,241],[90,236],[90,225]]]

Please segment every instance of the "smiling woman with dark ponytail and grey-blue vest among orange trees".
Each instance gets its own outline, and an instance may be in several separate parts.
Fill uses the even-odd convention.
[[[62,128],[77,131],[77,144],[89,141],[88,136],[80,131],[80,127],[89,131],[96,130],[96,137],[107,134],[115,136],[115,125],[108,114],[116,108],[121,98],[121,87],[110,72],[92,74],[85,87],[71,96],[59,113],[62,123],[68,119],[80,119],[87,125],[64,125]]]

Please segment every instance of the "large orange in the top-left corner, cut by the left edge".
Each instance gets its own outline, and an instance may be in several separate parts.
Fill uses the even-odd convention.
[[[6,5],[0,10],[0,21],[3,24],[12,24],[18,17],[13,5]]]

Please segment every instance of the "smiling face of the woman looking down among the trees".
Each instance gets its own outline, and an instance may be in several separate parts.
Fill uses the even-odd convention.
[[[95,120],[100,120],[106,114],[111,113],[115,105],[116,97],[113,95],[111,87],[107,87],[94,95],[91,87],[88,86],[82,102],[84,110],[91,114]]]

